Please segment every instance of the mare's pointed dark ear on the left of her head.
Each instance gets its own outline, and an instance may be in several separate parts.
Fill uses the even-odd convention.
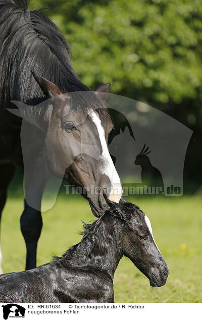
[[[51,98],[53,96],[60,95],[63,93],[63,91],[58,86],[56,86],[53,82],[37,75],[33,69],[31,70],[31,72],[32,72],[32,75],[34,76],[35,80],[37,81],[37,83],[41,87],[42,92],[48,98]]]

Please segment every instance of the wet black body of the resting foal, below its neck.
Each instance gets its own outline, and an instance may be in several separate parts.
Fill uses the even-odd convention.
[[[113,280],[106,271],[58,259],[1,275],[0,302],[114,302]]]

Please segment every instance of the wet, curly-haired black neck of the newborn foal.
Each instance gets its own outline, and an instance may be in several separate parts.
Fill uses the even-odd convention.
[[[65,253],[65,259],[72,266],[92,266],[106,270],[114,276],[123,256],[120,235],[113,218],[99,219],[87,228],[82,240]]]

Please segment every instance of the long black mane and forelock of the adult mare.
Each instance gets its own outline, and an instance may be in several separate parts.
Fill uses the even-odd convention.
[[[2,105],[10,100],[36,105],[46,99],[31,69],[62,90],[91,91],[72,68],[65,37],[46,16],[28,10],[27,0],[0,0],[0,26]],[[73,109],[95,108],[100,116],[108,117],[104,102],[93,93],[74,95],[70,103]]]

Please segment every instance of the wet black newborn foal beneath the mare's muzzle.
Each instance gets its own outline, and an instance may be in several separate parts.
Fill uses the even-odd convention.
[[[161,287],[169,270],[138,206],[107,199],[110,209],[85,225],[80,243],[33,270],[0,276],[0,302],[114,302],[113,276],[123,255]]]

